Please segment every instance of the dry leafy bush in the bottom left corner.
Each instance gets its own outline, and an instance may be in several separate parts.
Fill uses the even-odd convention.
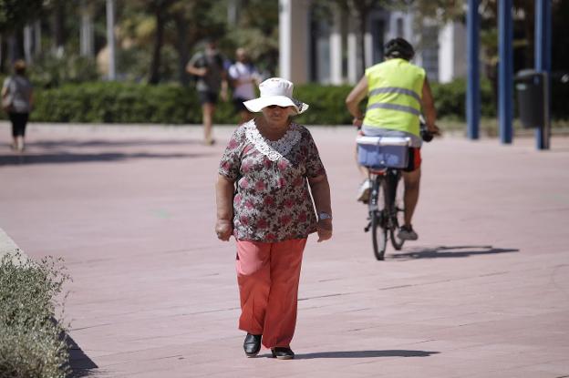
[[[0,260],[0,376],[64,378],[69,373],[64,327],[54,299],[69,276],[62,261]]]

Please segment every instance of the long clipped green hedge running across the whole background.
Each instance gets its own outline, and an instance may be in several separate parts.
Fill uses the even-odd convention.
[[[431,84],[440,118],[465,119],[466,81]],[[307,125],[351,123],[345,100],[350,86],[305,84],[295,87],[295,97],[310,104],[298,121]],[[553,117],[569,117],[562,104],[569,86],[553,86]],[[496,117],[491,84],[481,82],[481,117]],[[201,124],[202,110],[192,87],[150,86],[134,83],[96,82],[67,84],[36,90],[33,121],[96,123]],[[238,117],[231,101],[218,103],[215,123],[233,124]]]

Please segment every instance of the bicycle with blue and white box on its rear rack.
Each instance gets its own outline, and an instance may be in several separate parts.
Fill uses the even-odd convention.
[[[433,137],[423,125],[421,137],[427,142]],[[357,138],[358,160],[367,167],[371,181],[367,200],[369,221],[364,230],[367,232],[371,229],[374,254],[378,261],[385,260],[388,239],[395,250],[401,250],[405,243],[405,240],[397,237],[397,231],[405,222],[401,169],[408,165],[410,144],[411,138]]]

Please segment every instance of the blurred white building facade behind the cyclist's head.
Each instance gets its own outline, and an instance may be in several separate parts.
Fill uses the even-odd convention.
[[[362,46],[365,66],[372,66],[383,60],[383,46],[396,36],[416,47],[413,61],[429,80],[444,83],[466,74],[466,32],[459,23],[440,28],[423,21],[418,27],[412,8],[378,9],[367,15],[362,44],[357,20],[337,8],[331,19],[317,20],[310,0],[279,0],[279,12],[279,72],[295,83],[355,84],[363,75]]]

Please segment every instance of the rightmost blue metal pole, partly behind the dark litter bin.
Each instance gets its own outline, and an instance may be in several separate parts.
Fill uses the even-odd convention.
[[[543,109],[543,125],[535,129],[535,143],[537,149],[549,149],[551,138],[551,0],[537,0],[535,2],[535,70],[543,73],[543,96],[545,104]]]

